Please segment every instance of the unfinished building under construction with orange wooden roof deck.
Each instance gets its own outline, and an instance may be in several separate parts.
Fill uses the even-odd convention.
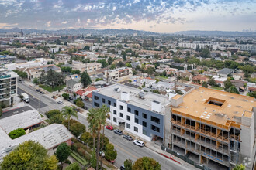
[[[252,169],[255,113],[253,97],[202,87],[176,95],[171,98],[171,127],[165,127],[164,145],[194,155],[202,165],[233,168],[243,163]]]

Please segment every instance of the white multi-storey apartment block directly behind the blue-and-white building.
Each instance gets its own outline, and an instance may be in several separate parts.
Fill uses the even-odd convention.
[[[118,80],[123,76],[129,76],[133,73],[133,69],[129,67],[122,67],[114,70],[106,70],[104,72],[105,77],[108,81]]]

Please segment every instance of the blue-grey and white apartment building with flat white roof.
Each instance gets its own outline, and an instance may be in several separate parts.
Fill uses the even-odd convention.
[[[109,124],[147,141],[163,140],[164,115],[170,113],[168,97],[114,84],[94,90],[92,101],[93,107],[106,104],[110,108]]]

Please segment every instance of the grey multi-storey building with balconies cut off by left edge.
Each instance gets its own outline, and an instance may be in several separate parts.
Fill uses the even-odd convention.
[[[0,69],[0,104],[2,107],[9,107],[15,103],[18,77],[17,73]]]

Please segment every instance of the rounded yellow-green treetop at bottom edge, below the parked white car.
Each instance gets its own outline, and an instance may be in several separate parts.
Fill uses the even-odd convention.
[[[161,170],[161,165],[154,158],[138,158],[133,164],[133,170]]]

